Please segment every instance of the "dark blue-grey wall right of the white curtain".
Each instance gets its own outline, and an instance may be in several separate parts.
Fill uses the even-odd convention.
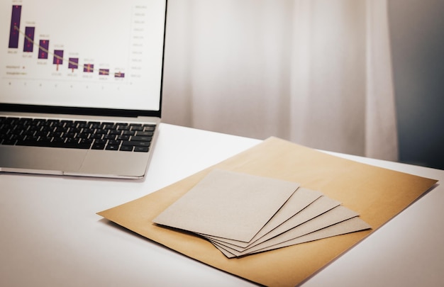
[[[388,3],[399,161],[444,169],[444,1]]]

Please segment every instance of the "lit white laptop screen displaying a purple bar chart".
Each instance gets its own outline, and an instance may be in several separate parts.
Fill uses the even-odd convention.
[[[0,102],[160,111],[165,0],[2,0]]]

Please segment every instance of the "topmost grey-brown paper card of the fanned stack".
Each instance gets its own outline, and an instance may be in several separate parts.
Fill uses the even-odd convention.
[[[299,184],[215,169],[154,223],[249,242],[299,188]]]

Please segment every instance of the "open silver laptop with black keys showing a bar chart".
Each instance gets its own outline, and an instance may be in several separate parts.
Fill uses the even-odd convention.
[[[0,171],[143,178],[162,110],[166,0],[0,6]]]

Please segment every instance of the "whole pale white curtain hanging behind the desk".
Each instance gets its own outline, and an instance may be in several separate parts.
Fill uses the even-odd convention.
[[[163,121],[396,160],[387,0],[169,0]]]

